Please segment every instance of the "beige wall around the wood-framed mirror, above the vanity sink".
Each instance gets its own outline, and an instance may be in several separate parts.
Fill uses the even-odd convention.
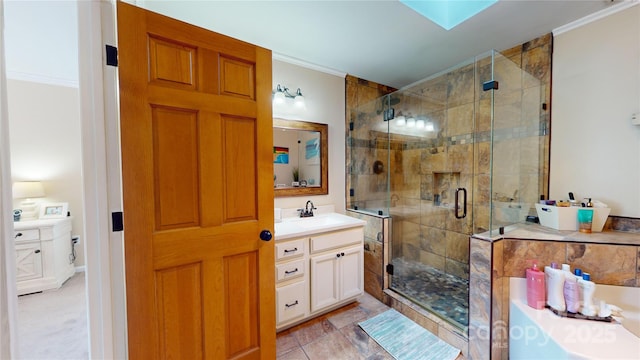
[[[307,200],[311,200],[316,206],[332,204],[336,211],[344,212],[344,75],[274,60],[273,89],[278,84],[292,89],[292,92],[300,88],[305,97],[306,110],[295,116],[274,113],[274,118],[286,117],[329,125],[329,194],[276,198],[275,207],[300,208]]]

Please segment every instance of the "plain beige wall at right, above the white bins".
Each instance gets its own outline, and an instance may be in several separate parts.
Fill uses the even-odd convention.
[[[572,191],[640,217],[639,112],[640,5],[556,34],[551,198]]]

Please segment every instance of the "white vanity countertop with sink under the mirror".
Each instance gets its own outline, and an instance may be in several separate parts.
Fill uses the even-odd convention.
[[[317,234],[321,232],[364,226],[366,221],[351,216],[328,213],[312,217],[288,217],[275,224],[276,241]]]

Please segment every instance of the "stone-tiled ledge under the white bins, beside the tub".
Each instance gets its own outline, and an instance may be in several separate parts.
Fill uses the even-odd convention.
[[[474,234],[473,237],[489,242],[502,239],[522,239],[640,246],[640,233],[622,231],[581,233],[579,231],[555,230],[531,223],[506,226],[503,235],[489,236],[489,232],[485,232]]]

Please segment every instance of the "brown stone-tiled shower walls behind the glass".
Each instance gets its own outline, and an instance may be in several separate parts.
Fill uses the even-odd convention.
[[[524,198],[535,202],[547,192],[551,35],[501,53],[510,61],[503,58],[495,64],[495,80],[501,87],[496,91],[494,129],[501,141],[493,149],[493,194],[491,98],[489,92],[477,92],[480,82],[491,80],[489,61],[479,62],[479,79],[471,63],[413,88],[412,92],[434,100],[427,104],[427,112],[440,124],[439,131],[423,137],[392,134],[390,144],[379,126],[384,123],[382,105],[372,100],[393,89],[347,77],[347,121],[353,122],[354,130],[347,130],[346,193],[353,189],[353,196],[347,197],[346,205],[375,210],[390,202],[394,256],[468,279],[468,235],[488,229],[490,198],[506,204],[497,209],[494,221],[512,223],[524,219],[529,207],[512,208],[511,202]],[[523,75],[520,67],[531,75]],[[402,106],[406,113],[411,101],[393,106],[396,113]],[[424,102],[419,106],[424,111]],[[381,162],[382,173],[374,171],[375,161]],[[391,171],[391,194],[387,194],[387,170]],[[532,178],[536,181],[529,181]],[[456,219],[450,209],[458,187],[473,189],[468,199],[473,216],[464,220]]]

